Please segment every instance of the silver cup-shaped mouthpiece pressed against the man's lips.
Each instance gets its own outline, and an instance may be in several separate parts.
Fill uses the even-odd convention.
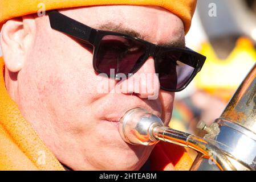
[[[120,119],[119,133],[127,143],[151,146],[159,142],[153,136],[153,129],[156,126],[164,126],[161,119],[147,110],[135,108],[127,111]]]

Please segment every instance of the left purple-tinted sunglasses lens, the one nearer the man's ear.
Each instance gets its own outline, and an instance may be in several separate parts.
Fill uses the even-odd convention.
[[[108,76],[111,69],[115,69],[115,74],[128,75],[140,65],[146,50],[145,45],[134,39],[106,35],[96,53],[96,68]]]

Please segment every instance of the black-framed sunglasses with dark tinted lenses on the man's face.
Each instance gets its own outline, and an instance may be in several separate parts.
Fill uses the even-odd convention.
[[[51,28],[94,46],[93,66],[97,73],[116,78],[136,73],[149,56],[155,60],[161,89],[179,92],[188,86],[205,63],[206,57],[189,48],[158,46],[145,40],[112,31],[96,30],[58,11],[48,11]]]

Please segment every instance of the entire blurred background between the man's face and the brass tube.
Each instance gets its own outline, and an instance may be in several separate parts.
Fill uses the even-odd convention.
[[[256,61],[256,0],[198,0],[186,46],[207,57],[187,89],[176,94],[173,129],[203,136]],[[193,151],[190,151],[193,156]]]

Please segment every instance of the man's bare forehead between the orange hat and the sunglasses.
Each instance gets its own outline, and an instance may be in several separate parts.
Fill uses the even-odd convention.
[[[99,30],[127,34],[162,46],[185,47],[182,21],[161,7],[83,7],[72,9],[66,15]]]

